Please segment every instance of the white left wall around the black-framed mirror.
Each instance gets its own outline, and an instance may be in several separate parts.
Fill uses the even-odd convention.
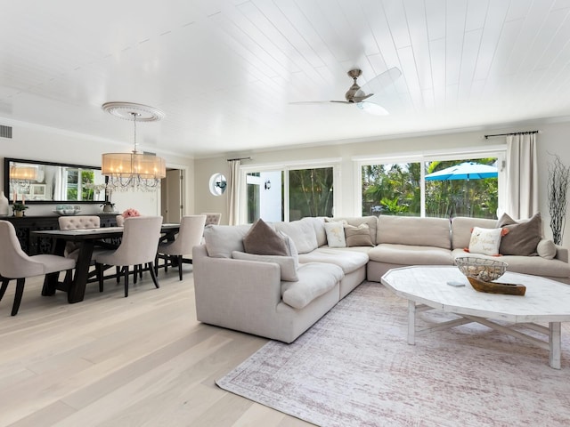
[[[101,166],[104,152],[129,152],[125,142],[97,140],[87,135],[64,133],[62,131],[36,125],[11,123],[2,120],[3,125],[12,125],[12,140],[0,139],[2,157],[15,157],[29,160],[67,163],[73,165]],[[189,157],[163,155],[167,167],[184,169],[188,182],[193,182],[194,161]],[[3,159],[4,160],[4,159]],[[4,189],[4,161],[0,162],[1,188]],[[186,186],[186,213],[194,212],[194,188]],[[116,192],[111,196],[115,209],[123,212],[129,207],[137,209],[141,214],[160,214],[160,195],[157,192]],[[52,214],[54,205],[29,205],[27,215]],[[83,214],[101,212],[99,204],[81,205]]]

